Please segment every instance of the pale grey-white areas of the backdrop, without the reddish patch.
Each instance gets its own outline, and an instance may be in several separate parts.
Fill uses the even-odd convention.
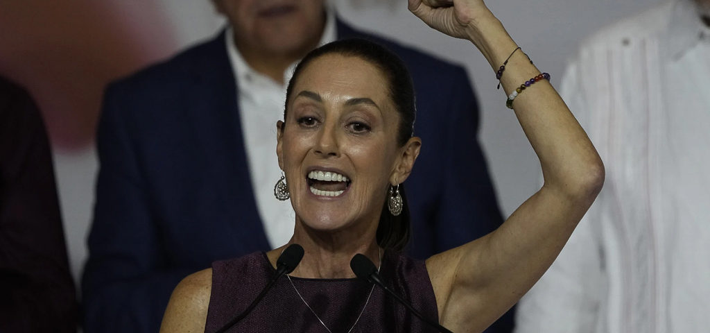
[[[213,36],[223,25],[209,0],[146,0],[162,9],[175,40],[173,52]],[[540,70],[559,84],[564,65],[574,55],[584,36],[608,23],[640,11],[662,0],[506,0],[488,1],[494,14]],[[143,1],[121,1],[120,13],[140,11]],[[473,45],[439,36],[406,9],[406,1],[334,0],[332,5],[344,20],[366,31],[391,36],[416,45],[441,58],[459,62],[474,82],[481,107],[480,140],[496,187],[498,202],[508,216],[537,190],[540,167],[513,113],[506,109],[501,91],[488,62]],[[118,6],[118,5],[117,5]],[[445,110],[442,114],[445,116]],[[574,111],[574,110],[572,110]],[[429,148],[429,147],[424,147]],[[461,153],[466,153],[462,151]],[[86,259],[86,236],[94,202],[97,160],[92,148],[84,151],[55,151],[57,174],[69,247],[72,273],[77,283]]]

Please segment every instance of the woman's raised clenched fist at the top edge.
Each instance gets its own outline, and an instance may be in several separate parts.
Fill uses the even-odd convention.
[[[495,19],[482,0],[409,0],[409,10],[428,26],[469,40],[478,24]]]

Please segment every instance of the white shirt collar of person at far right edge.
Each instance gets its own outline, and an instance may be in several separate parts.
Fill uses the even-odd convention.
[[[693,0],[679,0],[673,4],[666,36],[672,59],[680,58],[701,40],[710,40],[710,28],[701,21],[702,14]]]

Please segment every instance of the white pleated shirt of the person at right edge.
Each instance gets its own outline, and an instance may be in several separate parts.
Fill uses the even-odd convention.
[[[710,28],[675,0],[581,46],[561,94],[606,165],[518,332],[707,332]]]

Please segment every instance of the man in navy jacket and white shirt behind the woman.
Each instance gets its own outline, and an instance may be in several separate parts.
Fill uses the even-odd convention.
[[[337,38],[375,40],[413,72],[415,133],[432,149],[407,183],[409,253],[427,258],[502,223],[462,67],[357,31],[322,0],[214,4],[225,31],[107,89],[82,280],[86,332],[154,332],[188,273],[288,242],[295,219],[273,197],[282,181],[274,124],[295,62]]]

